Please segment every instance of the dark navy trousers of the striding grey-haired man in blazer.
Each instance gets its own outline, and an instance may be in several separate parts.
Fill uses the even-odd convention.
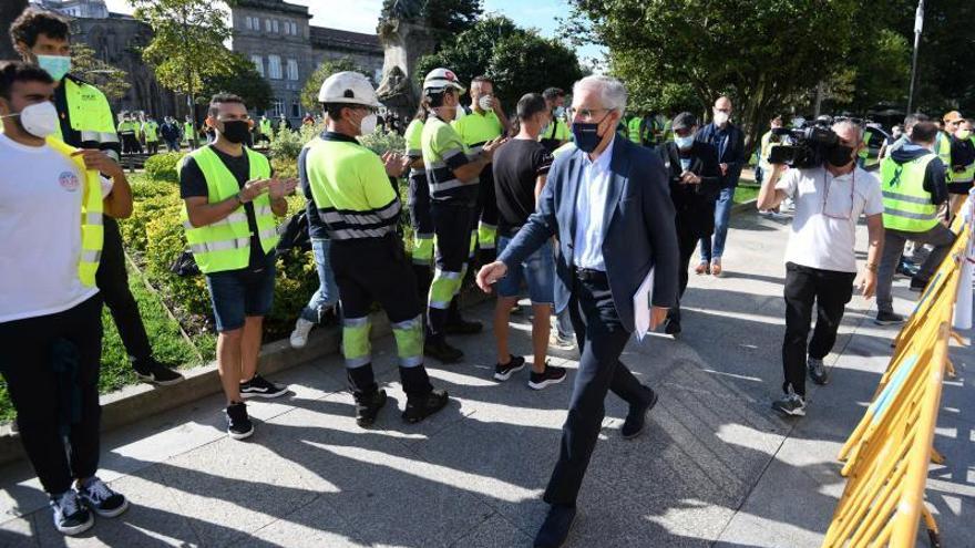
[[[609,283],[605,279],[575,281],[568,307],[579,347],[579,368],[545,502],[573,505],[606,415],[606,393],[613,391],[626,403],[639,405],[646,391],[619,361],[630,333],[619,321]]]

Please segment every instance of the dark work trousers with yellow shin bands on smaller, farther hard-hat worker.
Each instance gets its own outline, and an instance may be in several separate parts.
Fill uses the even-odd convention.
[[[430,285],[427,327],[430,339],[437,341],[443,339],[444,328],[450,319],[451,301],[460,291],[468,266],[474,209],[466,205],[433,203],[430,213],[437,236],[433,256],[437,271]]]

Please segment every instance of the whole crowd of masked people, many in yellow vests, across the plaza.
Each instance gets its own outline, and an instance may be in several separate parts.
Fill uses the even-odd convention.
[[[707,123],[689,112],[627,120],[624,84],[587,76],[575,83],[571,106],[565,91],[552,87],[522,96],[509,117],[489,77],[473,79],[468,90],[451,70],[437,69],[425,75],[422,102],[403,128],[406,149],[378,156],[357,137],[377,130],[382,104],[366,76],[339,72],[318,95],[325,131],[302,148],[298,177],[284,178],[250,146],[274,131],[271,121],[253,120],[239,96],[212,97],[204,145],[192,120],[179,127],[172,116],[157,124],[151,115],[126,113],[116,125],[105,96],[70,74],[62,19],[29,9],[11,37],[22,60],[0,63],[0,161],[8,167],[0,174],[0,226],[18,237],[0,244],[0,343],[8,349],[0,374],[28,457],[50,495],[54,525],[65,535],[92,527],[94,514],[114,517],[129,506],[96,476],[102,306],[141,379],[161,385],[182,380],[153,356],[127,288],[117,221],[133,204],[119,166],[123,152],[145,146],[154,153],[161,138],[178,151],[181,139],[188,141],[178,167],[183,224],[213,304],[232,438],[254,433],[246,399],[288,392],[258,373],[288,195],[300,192],[307,199],[320,285],[295,311],[290,342],[304,347],[315,325],[341,323],[355,421],[363,428],[380,420],[388,402],[373,374],[374,303],[392,325],[407,396],[402,418],[417,423],[449,401],[431,382],[425,360],[463,360],[452,341],[483,329],[459,307],[469,271],[481,289],[497,294],[492,331],[499,382],[528,365],[527,356],[512,351],[509,331],[526,290],[527,385],[544,390],[568,376],[548,363],[551,347],[579,353],[536,547],[561,546],[568,534],[607,392],[628,404],[620,428],[627,440],[643,433],[657,403],[654,390],[619,360],[630,337],[660,327],[675,337],[681,332],[680,300],[696,249],[697,275],[723,270],[735,188],[748,156],[726,96],[715,101]],[[384,123],[399,126],[396,116]],[[869,237],[859,288],[865,297],[876,293],[878,323],[903,321],[892,308],[894,275],[912,276],[912,289],[927,283],[954,241],[947,224],[962,204],[955,197],[968,193],[975,176],[972,121],[957,112],[941,127],[912,114],[899,138],[880,146],[855,121],[817,123],[831,141],[814,165],[772,161],[776,146],[794,145],[783,137],[781,116],[770,121],[760,145],[759,209],[787,203],[793,209],[784,257],[783,395],[772,402],[787,415],[805,413],[807,378],[829,381],[823,359],[856,286],[859,219],[866,218]],[[279,121],[278,127],[288,126]],[[399,231],[397,180],[403,176],[409,252]],[[917,266],[902,257],[907,241]],[[65,397],[78,402],[66,416]]]

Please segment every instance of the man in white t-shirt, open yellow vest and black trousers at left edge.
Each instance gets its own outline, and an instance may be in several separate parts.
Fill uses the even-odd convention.
[[[102,300],[94,273],[102,211],[127,217],[132,193],[104,153],[45,139],[58,126],[53,96],[43,70],[0,62],[0,374],[54,526],[78,535],[94,524],[92,513],[114,517],[129,507],[95,476]],[[90,199],[92,192],[100,194]]]

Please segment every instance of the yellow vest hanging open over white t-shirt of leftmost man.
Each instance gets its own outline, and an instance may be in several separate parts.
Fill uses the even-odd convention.
[[[48,145],[66,156],[84,174],[84,195],[81,200],[81,258],[78,262],[78,278],[88,287],[94,287],[95,272],[102,257],[104,227],[102,226],[102,179],[99,172],[85,169],[81,156],[72,157],[78,148],[61,139],[48,137]]]

